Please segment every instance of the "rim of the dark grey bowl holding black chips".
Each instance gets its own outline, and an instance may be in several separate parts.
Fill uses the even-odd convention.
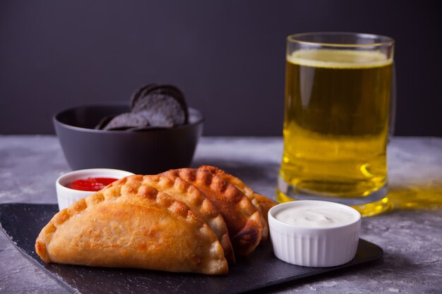
[[[126,102],[102,102],[102,104],[91,103],[91,104],[82,104],[82,105],[78,105],[78,106],[71,106],[71,107],[67,107],[65,109],[62,109],[61,111],[57,111],[52,116],[52,121],[54,124],[61,125],[64,128],[67,128],[70,130],[78,130],[78,131],[85,132],[85,133],[103,133],[103,134],[130,134],[130,133],[145,133],[145,132],[151,133],[151,132],[162,131],[162,130],[181,130],[184,128],[191,128],[191,127],[193,127],[195,125],[199,125],[205,121],[203,113],[193,107],[188,107],[189,114],[193,111],[193,113],[196,113],[199,116],[197,121],[195,121],[193,123],[186,123],[185,125],[177,125],[172,128],[150,128],[150,129],[146,129],[146,130],[130,131],[130,132],[128,132],[127,130],[96,130],[95,128],[82,128],[82,127],[78,127],[76,125],[68,125],[67,123],[62,123],[61,121],[59,121],[59,118],[58,118],[59,116],[61,116],[61,114],[64,114],[68,111],[74,111],[76,109],[81,109],[81,108],[86,108],[86,107],[100,107],[100,106],[101,107],[102,106],[128,106],[129,107],[129,104],[127,104]]]

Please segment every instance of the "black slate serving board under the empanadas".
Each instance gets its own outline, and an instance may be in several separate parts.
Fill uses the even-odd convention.
[[[243,293],[374,261],[383,255],[381,247],[360,239],[356,257],[347,264],[299,267],[277,259],[268,241],[259,245],[249,257],[238,258],[226,276],[45,264],[35,253],[35,239],[56,212],[56,204],[0,204],[1,228],[18,250],[68,289],[80,293]]]

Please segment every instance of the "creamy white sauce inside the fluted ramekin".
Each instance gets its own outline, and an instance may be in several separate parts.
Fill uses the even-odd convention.
[[[354,214],[350,214],[345,209],[318,207],[314,204],[287,207],[277,212],[275,219],[290,225],[308,228],[332,228],[356,221]]]

